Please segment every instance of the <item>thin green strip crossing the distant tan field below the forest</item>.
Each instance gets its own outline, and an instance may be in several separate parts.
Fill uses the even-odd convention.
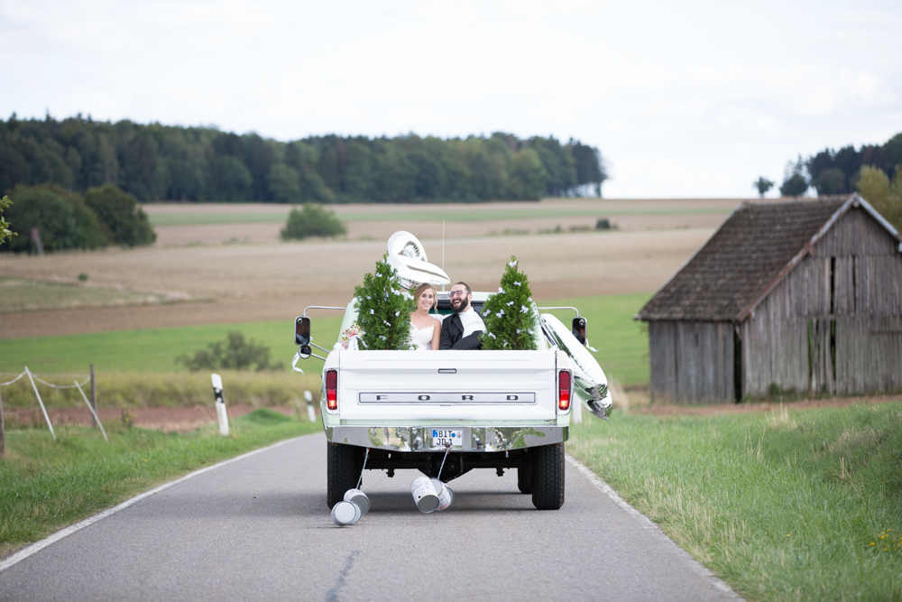
[[[676,216],[676,215],[726,215],[728,208],[460,208],[447,205],[446,211],[404,209],[381,212],[340,212],[344,221],[435,221],[449,222],[509,221],[529,218],[605,218],[621,215]],[[182,213],[151,214],[152,226],[203,226],[207,224],[262,224],[283,223],[288,216],[275,213]]]

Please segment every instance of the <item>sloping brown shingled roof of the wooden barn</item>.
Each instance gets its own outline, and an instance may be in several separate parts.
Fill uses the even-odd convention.
[[[789,202],[742,201],[636,318],[744,320],[852,206],[866,209],[897,237],[896,229],[857,194]]]

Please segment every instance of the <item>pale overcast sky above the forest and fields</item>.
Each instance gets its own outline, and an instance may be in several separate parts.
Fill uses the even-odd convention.
[[[900,33],[897,0],[0,0],[0,116],[573,137],[607,198],[748,197],[902,132]]]

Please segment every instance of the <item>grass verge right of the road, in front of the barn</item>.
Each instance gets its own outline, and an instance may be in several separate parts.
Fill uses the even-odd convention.
[[[575,427],[568,450],[750,599],[902,599],[902,402]]]

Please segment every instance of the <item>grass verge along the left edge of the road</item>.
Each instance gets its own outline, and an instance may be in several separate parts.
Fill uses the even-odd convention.
[[[109,443],[82,427],[59,428],[57,440],[46,430],[6,431],[0,557],[192,470],[322,428],[265,409],[230,422],[221,437],[217,426],[179,435],[110,421]]]

